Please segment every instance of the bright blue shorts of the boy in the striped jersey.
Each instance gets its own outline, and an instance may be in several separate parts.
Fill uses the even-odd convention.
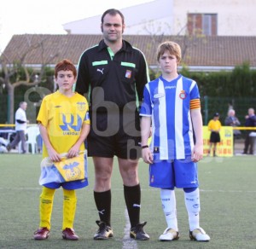
[[[197,164],[190,158],[158,160],[149,165],[149,186],[154,188],[198,187]]]

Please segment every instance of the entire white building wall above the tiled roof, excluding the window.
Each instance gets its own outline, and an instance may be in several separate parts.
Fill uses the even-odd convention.
[[[183,35],[187,14],[218,14],[218,36],[256,36],[256,0],[155,0],[120,9],[127,35]],[[100,34],[101,15],[67,23],[72,34]]]

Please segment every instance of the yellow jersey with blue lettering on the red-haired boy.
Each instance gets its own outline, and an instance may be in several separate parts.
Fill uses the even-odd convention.
[[[88,109],[88,102],[77,92],[72,97],[59,91],[44,97],[37,121],[46,128],[57,153],[67,153],[79,139],[82,125],[90,125]],[[80,150],[84,150],[84,142]],[[48,156],[43,144],[43,158]]]

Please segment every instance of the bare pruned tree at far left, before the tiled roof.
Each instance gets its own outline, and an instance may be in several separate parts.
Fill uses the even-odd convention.
[[[42,64],[41,67],[28,68],[26,67],[26,56],[32,53],[33,50],[40,49]],[[7,89],[8,94],[8,112],[7,123],[14,123],[15,113],[15,88],[20,85],[36,86],[44,82],[44,72],[51,61],[55,59],[55,55],[51,55],[49,59],[44,58],[44,40],[32,41],[27,40],[26,50],[22,55],[17,55],[15,61],[10,61],[9,58],[3,53],[0,57],[0,65],[2,66],[3,76],[0,76],[0,84]]]

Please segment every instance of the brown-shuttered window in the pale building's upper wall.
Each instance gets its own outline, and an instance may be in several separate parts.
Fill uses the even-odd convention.
[[[217,14],[188,14],[189,35],[217,36]]]

